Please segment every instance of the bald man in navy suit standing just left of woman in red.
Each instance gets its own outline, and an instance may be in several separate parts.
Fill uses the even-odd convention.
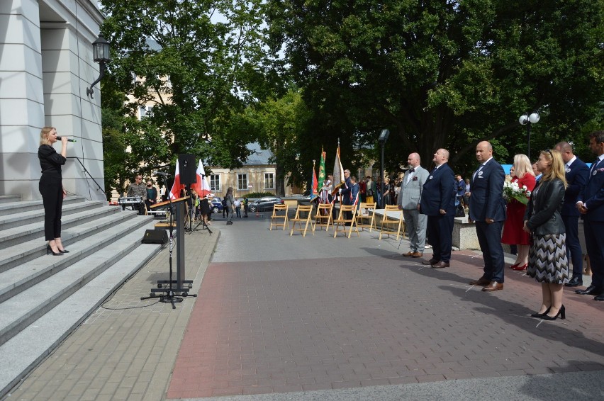
[[[487,141],[476,145],[476,160],[480,166],[474,172],[470,185],[469,221],[476,223],[484,273],[478,280],[470,281],[470,284],[483,286],[483,291],[503,290],[501,227],[505,221],[505,173],[501,164],[493,159],[493,146]]]

